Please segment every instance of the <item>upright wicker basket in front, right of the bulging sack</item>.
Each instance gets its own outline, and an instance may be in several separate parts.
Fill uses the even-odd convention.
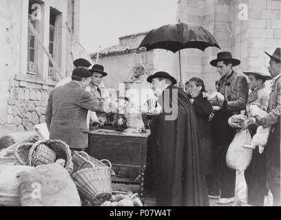
[[[84,164],[90,168],[81,168]],[[90,161],[85,161],[72,175],[80,195],[91,203],[101,204],[112,196],[111,167],[96,166]]]

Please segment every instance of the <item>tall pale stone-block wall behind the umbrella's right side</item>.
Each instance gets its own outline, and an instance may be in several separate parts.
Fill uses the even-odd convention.
[[[246,8],[240,8],[242,5]],[[238,17],[242,9],[247,10],[247,19]],[[220,76],[209,62],[218,52],[229,51],[240,59],[241,64],[234,67],[237,72],[267,73],[269,58],[264,51],[273,53],[281,46],[280,0],[181,0],[178,18],[202,24],[214,34],[222,49],[209,47],[204,53],[189,49],[182,52],[183,78],[196,75],[212,89]]]

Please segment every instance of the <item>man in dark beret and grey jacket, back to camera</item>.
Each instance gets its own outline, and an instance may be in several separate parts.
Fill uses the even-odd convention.
[[[103,112],[103,104],[86,91],[92,74],[83,67],[73,70],[70,83],[51,91],[46,110],[50,139],[66,142],[72,151],[88,146],[87,111]]]

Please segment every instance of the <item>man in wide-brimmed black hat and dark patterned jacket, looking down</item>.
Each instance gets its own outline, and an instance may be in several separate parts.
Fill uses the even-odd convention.
[[[218,203],[231,203],[235,201],[236,170],[228,168],[226,155],[229,144],[236,134],[236,130],[228,124],[229,118],[246,108],[249,94],[247,77],[238,74],[233,67],[240,65],[240,61],[232,58],[230,52],[220,52],[210,64],[217,68],[220,74],[218,91],[225,96],[224,102],[218,99],[209,102],[219,109],[214,113],[212,120],[213,142],[213,175],[208,179],[209,195],[218,197]]]

